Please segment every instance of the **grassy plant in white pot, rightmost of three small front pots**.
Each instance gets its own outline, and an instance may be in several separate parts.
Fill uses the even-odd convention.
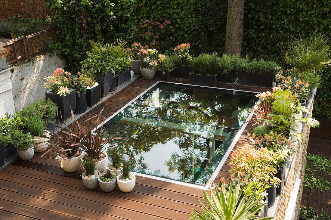
[[[130,171],[132,165],[133,163],[129,158],[122,160],[122,169],[117,176],[117,185],[123,193],[131,192],[136,184],[136,176]]]

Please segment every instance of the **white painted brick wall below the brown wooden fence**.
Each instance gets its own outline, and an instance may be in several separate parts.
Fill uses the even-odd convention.
[[[31,62],[21,62],[15,65],[12,73],[12,93],[15,109],[21,109],[38,99],[45,98],[45,76],[54,72],[58,67],[64,68],[65,61],[56,55],[40,55]]]

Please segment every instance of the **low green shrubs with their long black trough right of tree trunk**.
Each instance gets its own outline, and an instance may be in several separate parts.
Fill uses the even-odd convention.
[[[256,61],[249,58],[241,58],[236,63],[238,71],[238,84],[250,86],[272,87],[274,75],[277,74],[275,68],[277,64],[271,61]]]

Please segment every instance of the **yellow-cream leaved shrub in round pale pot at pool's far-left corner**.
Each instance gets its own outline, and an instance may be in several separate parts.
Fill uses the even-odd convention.
[[[140,72],[144,79],[151,80],[154,78],[158,65],[157,60],[158,51],[155,49],[149,49],[142,52],[143,60],[141,62]]]

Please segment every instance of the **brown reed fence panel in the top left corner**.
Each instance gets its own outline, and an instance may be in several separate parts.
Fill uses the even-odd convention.
[[[21,14],[24,18],[46,19],[46,15],[52,17],[51,13],[45,9],[43,0],[1,0],[0,19],[13,18],[14,15]]]

